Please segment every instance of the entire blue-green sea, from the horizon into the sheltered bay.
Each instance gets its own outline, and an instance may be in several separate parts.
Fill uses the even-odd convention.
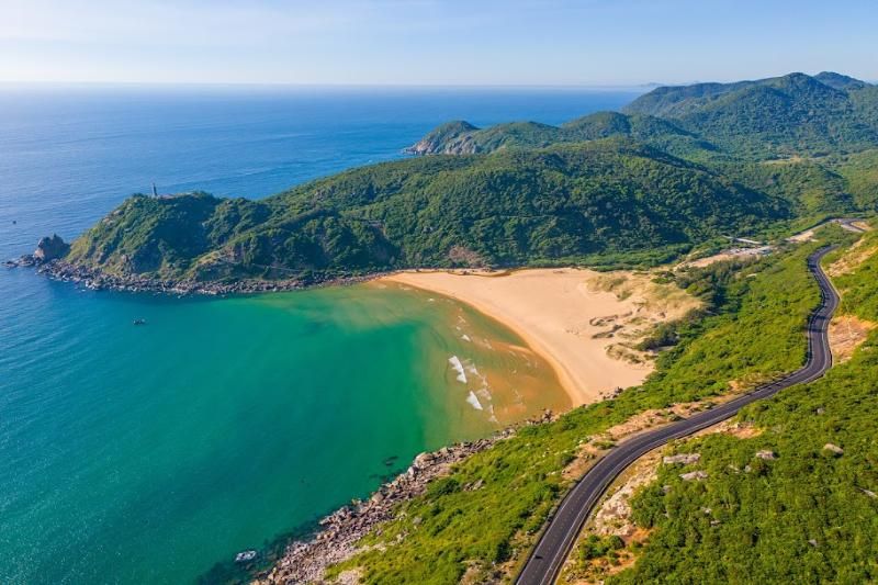
[[[448,120],[561,123],[634,95],[0,87],[0,258],[153,182],[261,198]],[[499,351],[520,345],[401,286],[175,299],[3,269],[0,582],[234,580],[236,552],[270,555],[418,452],[563,408],[544,361]]]

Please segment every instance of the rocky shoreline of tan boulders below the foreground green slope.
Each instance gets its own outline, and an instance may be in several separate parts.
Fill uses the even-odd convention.
[[[527,420],[518,427],[547,423],[552,418],[552,413],[547,410],[542,417]],[[379,487],[369,499],[353,500],[350,506],[323,518],[319,521],[322,529],[311,540],[291,542],[281,560],[254,583],[324,583],[326,569],[353,556],[359,550],[358,541],[379,525],[392,520],[397,505],[423,494],[431,480],[447,475],[453,464],[514,436],[518,427],[509,427],[486,439],[420,453],[404,473]],[[470,485],[465,488],[479,487]]]

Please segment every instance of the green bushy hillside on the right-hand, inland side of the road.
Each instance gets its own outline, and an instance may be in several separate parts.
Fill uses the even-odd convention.
[[[835,279],[841,312],[878,320],[878,238],[870,256]],[[837,255],[836,255],[837,258]],[[751,405],[739,416],[758,435],[679,441],[708,477],[679,468],[633,500],[653,528],[635,565],[608,583],[871,583],[878,580],[878,335],[825,378]],[[843,452],[824,448],[831,443]],[[757,452],[767,458],[757,458]],[[667,486],[667,487],[665,487]],[[706,511],[707,510],[707,511]]]

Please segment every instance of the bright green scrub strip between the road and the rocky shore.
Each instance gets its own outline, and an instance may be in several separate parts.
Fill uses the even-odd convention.
[[[701,291],[711,304],[682,326],[677,346],[662,356],[646,384],[556,421],[525,427],[468,459],[368,538],[380,547],[333,572],[359,566],[364,582],[375,584],[451,584],[468,572],[473,582],[508,576],[570,486],[562,470],[590,438],[644,409],[713,396],[732,381],[801,365],[803,326],[819,302],[804,263],[814,247],[738,270],[720,263],[680,277],[680,284]],[[765,339],[774,342],[750,351]]]

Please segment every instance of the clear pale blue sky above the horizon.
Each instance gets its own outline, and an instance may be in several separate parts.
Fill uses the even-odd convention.
[[[878,0],[0,0],[0,81],[878,80]]]

